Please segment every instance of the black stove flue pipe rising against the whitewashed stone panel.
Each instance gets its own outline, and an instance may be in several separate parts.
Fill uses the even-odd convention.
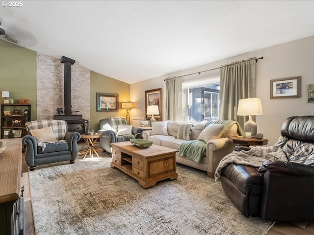
[[[62,56],[60,61],[64,64],[64,115],[71,115],[71,66],[75,63],[75,60]]]

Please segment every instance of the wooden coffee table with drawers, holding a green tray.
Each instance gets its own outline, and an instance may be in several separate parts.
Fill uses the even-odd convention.
[[[176,152],[178,150],[153,144],[139,148],[130,141],[111,143],[112,162],[116,167],[138,181],[143,188],[156,185],[164,179],[177,179]]]

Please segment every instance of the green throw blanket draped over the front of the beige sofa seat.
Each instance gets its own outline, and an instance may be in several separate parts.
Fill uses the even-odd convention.
[[[186,156],[200,164],[206,151],[205,141],[185,141],[179,146],[179,156]]]

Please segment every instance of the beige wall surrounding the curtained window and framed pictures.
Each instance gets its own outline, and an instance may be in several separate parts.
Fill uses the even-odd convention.
[[[283,121],[290,116],[314,115],[314,103],[307,103],[307,85],[314,83],[314,37],[268,47],[239,56],[210,63],[204,66],[179,71],[153,78],[144,82],[131,84],[131,101],[136,102],[136,109],[131,110],[132,117],[145,117],[145,91],[163,88],[163,109],[165,107],[164,79],[193,72],[206,71],[234,61],[261,57],[257,63],[256,97],[262,99],[263,115],[256,117],[258,133],[264,134],[273,145],[279,135]],[[183,77],[183,81],[203,77],[217,76],[219,70]],[[301,97],[270,99],[270,79],[301,76]],[[163,114],[164,114],[163,110]]]

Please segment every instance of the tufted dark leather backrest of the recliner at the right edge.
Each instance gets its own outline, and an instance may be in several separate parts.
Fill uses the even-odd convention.
[[[314,165],[314,116],[287,118],[275,145],[283,149],[289,162]]]

